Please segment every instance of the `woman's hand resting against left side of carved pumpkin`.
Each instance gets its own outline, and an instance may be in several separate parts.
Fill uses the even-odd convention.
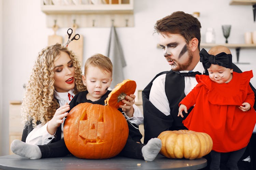
[[[53,118],[48,122],[47,125],[47,131],[49,134],[54,135],[57,128],[60,126],[61,123],[63,123],[63,118],[68,116],[68,111],[69,111],[70,107],[69,104],[66,103],[65,105],[59,107]]]

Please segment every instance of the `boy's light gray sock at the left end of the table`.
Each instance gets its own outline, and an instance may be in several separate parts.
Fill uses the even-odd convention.
[[[42,157],[41,150],[37,145],[31,145],[17,139],[12,141],[11,150],[16,155],[30,159],[40,159]]]

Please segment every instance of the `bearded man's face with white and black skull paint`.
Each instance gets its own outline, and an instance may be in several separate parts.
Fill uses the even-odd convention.
[[[174,71],[187,70],[193,55],[187,46],[186,40],[180,34],[160,35],[160,46],[171,69]]]

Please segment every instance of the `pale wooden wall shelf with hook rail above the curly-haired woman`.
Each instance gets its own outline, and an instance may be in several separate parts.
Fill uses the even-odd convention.
[[[71,0],[69,0],[71,2]],[[134,0],[105,0],[102,4],[53,4],[41,0],[41,11],[46,14],[46,26],[78,27],[133,27]],[[51,2],[51,0],[48,0]]]

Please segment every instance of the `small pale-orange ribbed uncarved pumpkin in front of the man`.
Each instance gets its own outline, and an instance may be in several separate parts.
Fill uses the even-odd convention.
[[[168,158],[201,158],[213,146],[210,135],[190,130],[164,131],[158,138],[162,141],[160,154]]]

